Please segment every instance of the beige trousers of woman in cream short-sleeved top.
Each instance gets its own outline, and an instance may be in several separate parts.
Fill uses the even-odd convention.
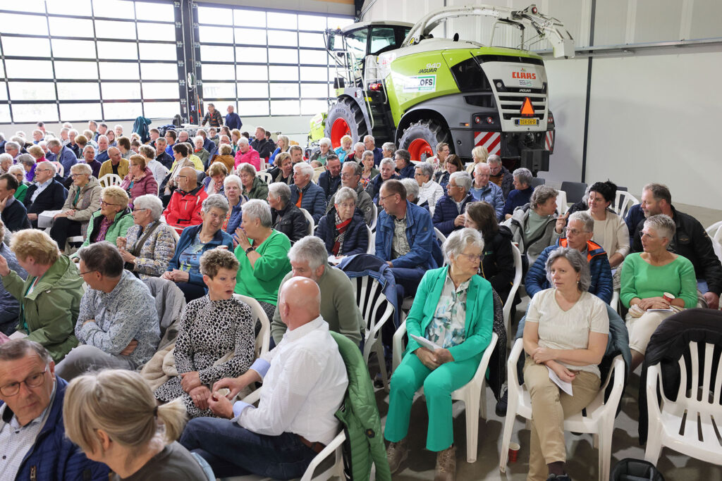
[[[549,379],[549,369],[529,356],[524,363],[524,384],[531,396],[531,436],[529,438],[528,481],[544,481],[547,464],[565,462],[564,420],[581,412],[599,393],[601,381],[596,374],[579,371],[572,381],[573,396],[563,392]]]

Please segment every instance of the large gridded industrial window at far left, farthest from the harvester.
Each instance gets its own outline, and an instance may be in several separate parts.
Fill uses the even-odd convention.
[[[173,15],[168,1],[0,1],[0,123],[173,117]]]

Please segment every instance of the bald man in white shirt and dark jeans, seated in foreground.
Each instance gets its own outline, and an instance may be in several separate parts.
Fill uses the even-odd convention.
[[[192,419],[181,436],[181,444],[203,456],[219,477],[301,477],[339,432],[334,413],[348,378],[329,325],[319,314],[318,285],[290,278],[279,292],[278,308],[288,331],[276,348],[240,377],[214,384],[209,405],[225,419]],[[230,402],[254,381],[264,383],[257,408]],[[226,396],[219,392],[224,388],[230,389]]]

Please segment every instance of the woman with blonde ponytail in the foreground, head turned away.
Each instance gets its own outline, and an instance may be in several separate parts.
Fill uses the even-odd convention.
[[[114,480],[208,479],[196,458],[175,442],[186,425],[181,400],[158,406],[140,374],[108,369],[73,379],[65,392],[68,438]]]

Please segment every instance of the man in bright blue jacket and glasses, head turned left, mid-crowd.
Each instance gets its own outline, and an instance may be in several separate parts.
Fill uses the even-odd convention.
[[[378,201],[383,212],[376,228],[376,257],[391,268],[403,296],[414,296],[428,269],[438,268],[439,250],[431,214],[406,200],[406,189],[399,180],[381,185]]]

